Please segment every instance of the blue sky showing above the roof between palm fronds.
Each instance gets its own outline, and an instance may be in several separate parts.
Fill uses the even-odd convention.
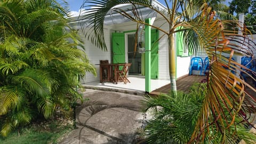
[[[72,15],[78,15],[79,14],[79,9],[82,6],[83,2],[85,0],[66,0],[69,4],[70,11]],[[160,3],[164,3],[164,0],[158,0]],[[228,4],[228,2],[231,2],[231,0],[227,0],[225,3]]]

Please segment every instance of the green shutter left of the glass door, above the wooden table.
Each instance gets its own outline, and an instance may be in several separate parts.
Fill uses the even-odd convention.
[[[125,62],[124,33],[112,33],[113,63]]]

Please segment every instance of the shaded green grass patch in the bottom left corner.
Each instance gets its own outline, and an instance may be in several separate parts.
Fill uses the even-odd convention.
[[[31,124],[20,130],[15,130],[6,138],[0,137],[1,144],[38,144],[58,143],[71,130],[72,123],[59,121],[41,122]]]

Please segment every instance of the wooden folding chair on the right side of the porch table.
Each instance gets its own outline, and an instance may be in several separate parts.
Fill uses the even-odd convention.
[[[118,70],[117,71],[117,81],[118,82],[124,82],[125,84],[126,83],[131,83],[129,81],[129,79],[127,78],[127,73],[131,67],[132,63],[125,63],[122,70]]]

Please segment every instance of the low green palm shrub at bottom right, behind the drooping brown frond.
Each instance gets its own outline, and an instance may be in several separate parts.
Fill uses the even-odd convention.
[[[207,93],[206,83],[196,83],[189,93],[178,91],[161,94],[159,97],[146,97],[142,100],[142,111],[153,116],[145,128],[147,143],[187,143],[196,126],[199,112]],[[228,111],[225,111],[228,113]],[[233,119],[228,118],[228,121]],[[241,139],[246,142],[256,140],[256,135],[242,124],[236,116],[236,127],[226,132],[224,143],[236,143]],[[222,134],[217,129],[211,129],[214,135],[204,139],[204,143],[221,143]],[[213,132],[214,131],[214,132]]]

